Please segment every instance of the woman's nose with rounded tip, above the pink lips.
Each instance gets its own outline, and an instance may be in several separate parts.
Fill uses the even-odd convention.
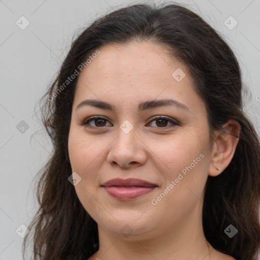
[[[110,165],[135,168],[147,160],[145,144],[136,136],[134,129],[128,134],[119,129],[118,137],[112,142],[107,160]]]

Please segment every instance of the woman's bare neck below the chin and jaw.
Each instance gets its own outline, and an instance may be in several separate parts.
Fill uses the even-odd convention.
[[[202,203],[199,202],[177,225],[149,234],[134,236],[133,233],[128,238],[111,234],[99,226],[100,248],[90,259],[210,259],[215,250],[204,236],[202,219],[198,218],[201,215]]]

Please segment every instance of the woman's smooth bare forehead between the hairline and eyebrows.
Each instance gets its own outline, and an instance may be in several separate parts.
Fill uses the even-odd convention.
[[[133,42],[105,45],[99,51],[79,75],[75,103],[87,98],[111,103],[174,98],[204,110],[186,67],[165,46]]]

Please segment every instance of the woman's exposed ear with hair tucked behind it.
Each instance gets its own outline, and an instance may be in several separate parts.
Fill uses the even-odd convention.
[[[221,130],[215,131],[215,142],[209,166],[209,175],[213,177],[222,173],[229,166],[239,141],[241,125],[236,120],[230,119],[223,125],[223,128],[225,133]]]

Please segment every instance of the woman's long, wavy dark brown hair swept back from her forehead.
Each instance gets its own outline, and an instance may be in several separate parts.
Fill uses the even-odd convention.
[[[68,181],[72,174],[68,136],[78,77],[54,93],[98,48],[135,40],[163,44],[170,55],[185,64],[194,89],[206,104],[211,142],[213,131],[222,129],[229,119],[241,125],[230,165],[220,175],[207,179],[203,229],[216,250],[237,260],[255,260],[260,243],[260,145],[252,122],[243,112],[238,61],[228,44],[200,16],[169,3],[118,9],[93,21],[73,41],[56,79],[41,100],[42,121],[54,149],[39,172],[40,207],[29,225],[31,232],[25,237],[23,255],[30,234],[34,259],[86,260],[99,249],[98,226]],[[230,224],[238,230],[233,238],[224,233]]]

